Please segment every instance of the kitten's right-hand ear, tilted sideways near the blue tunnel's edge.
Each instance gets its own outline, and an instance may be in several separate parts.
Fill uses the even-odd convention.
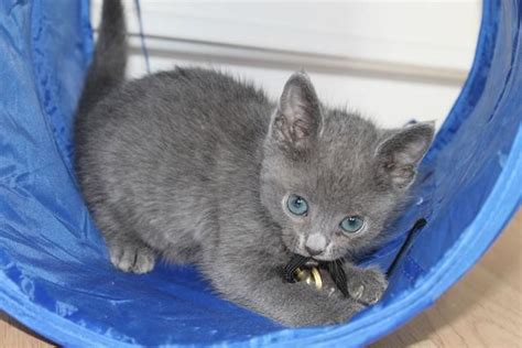
[[[434,132],[434,123],[416,123],[381,142],[376,151],[380,178],[406,189],[415,180],[416,167],[429,148]]]

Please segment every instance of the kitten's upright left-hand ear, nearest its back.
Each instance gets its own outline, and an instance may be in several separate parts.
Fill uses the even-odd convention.
[[[313,143],[320,123],[319,100],[312,81],[304,72],[293,74],[272,118],[272,139],[282,148],[303,150]]]

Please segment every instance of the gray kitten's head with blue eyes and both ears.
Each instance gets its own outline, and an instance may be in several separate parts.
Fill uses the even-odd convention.
[[[304,73],[284,86],[264,143],[261,199],[291,251],[334,260],[376,240],[404,202],[432,123],[380,130],[324,108]]]

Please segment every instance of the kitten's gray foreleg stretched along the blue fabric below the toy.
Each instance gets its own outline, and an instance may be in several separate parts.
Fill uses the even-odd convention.
[[[305,283],[286,283],[276,271],[242,265],[240,270],[227,268],[214,273],[215,287],[229,300],[283,325],[344,323],[365,307],[351,298],[328,297]]]

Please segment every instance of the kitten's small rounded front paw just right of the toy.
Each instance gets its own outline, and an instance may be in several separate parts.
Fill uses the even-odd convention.
[[[348,292],[351,298],[366,305],[371,305],[381,300],[388,287],[388,281],[378,269],[360,269],[352,272],[348,279]]]

